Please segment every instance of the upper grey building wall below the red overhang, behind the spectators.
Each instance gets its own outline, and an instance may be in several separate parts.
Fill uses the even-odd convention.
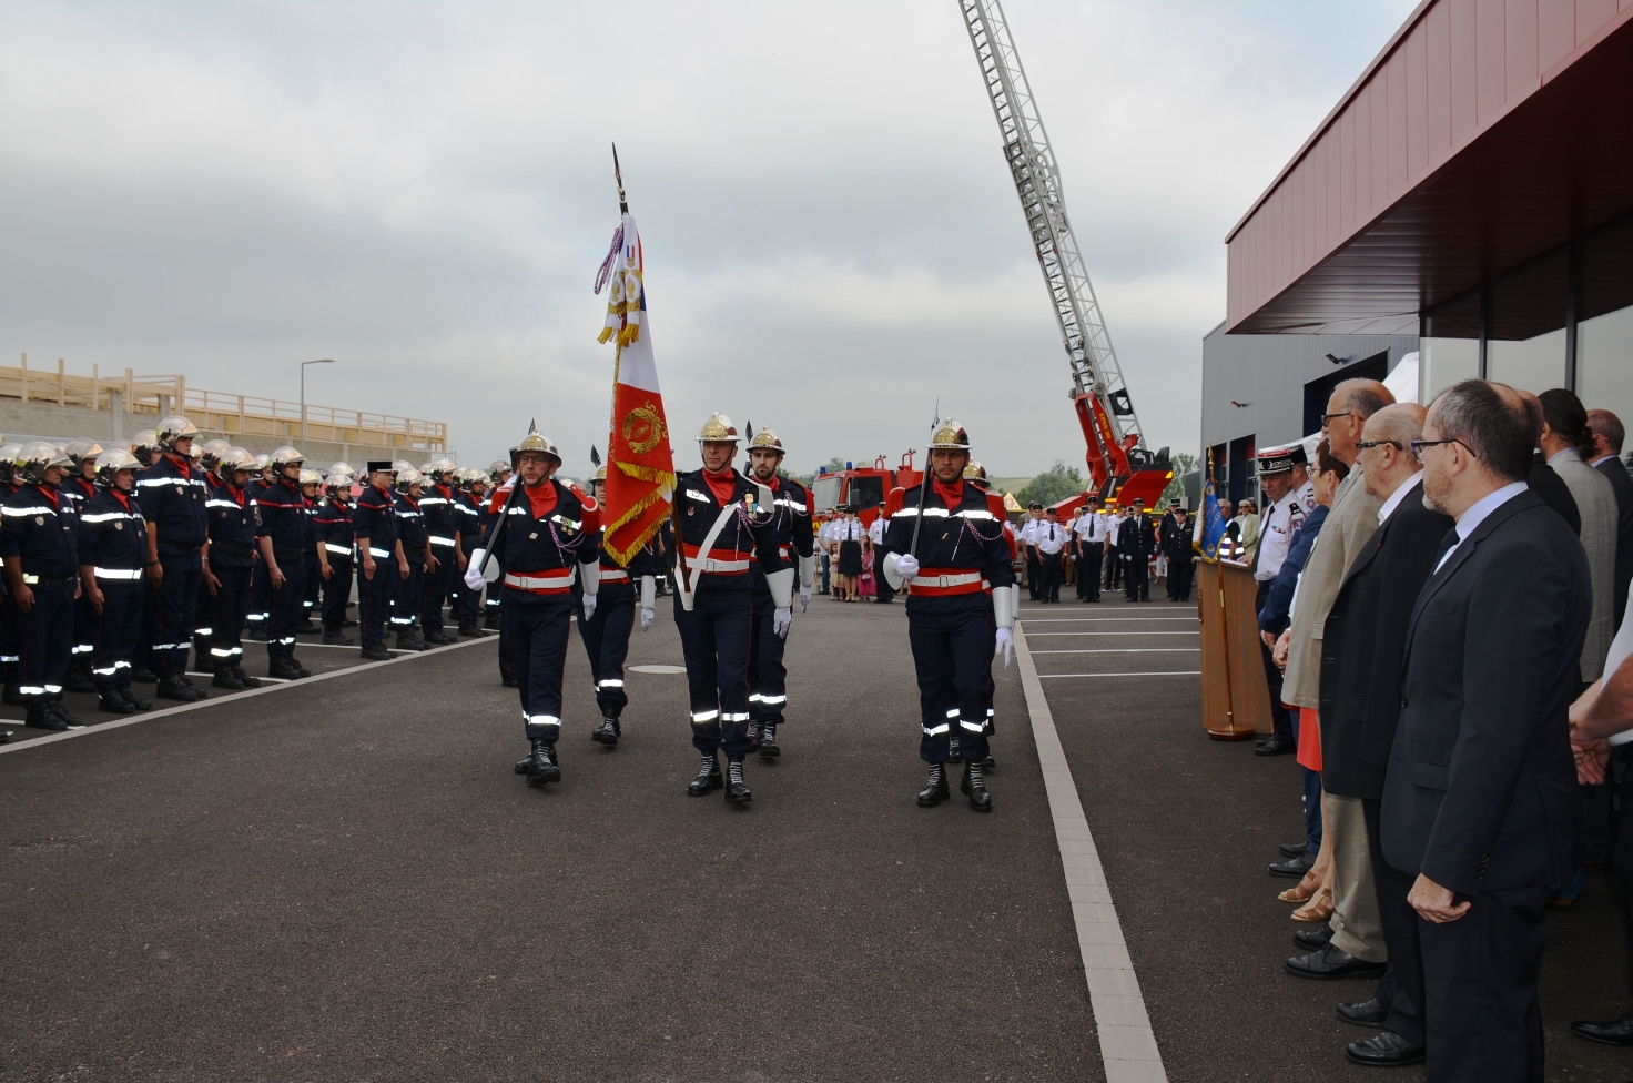
[[[1305,384],[1385,350],[1395,369],[1417,350],[1417,336],[1226,335],[1220,323],[1202,340],[1202,446],[1254,436],[1259,448],[1275,448],[1306,436]],[[1329,353],[1344,366],[1333,364]]]

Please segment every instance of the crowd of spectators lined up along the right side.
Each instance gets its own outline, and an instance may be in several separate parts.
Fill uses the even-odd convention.
[[[1298,880],[1285,970],[1377,980],[1336,1008],[1378,1031],[1354,1062],[1540,1080],[1545,913],[1607,861],[1633,913],[1623,436],[1564,389],[1463,381],[1424,410],[1347,381],[1313,462],[1261,462],[1264,533],[1231,518],[1238,559],[1279,562],[1259,627],[1295,740],[1259,751],[1297,750],[1305,794],[1270,866]],[[1633,1045],[1633,1013],[1573,1031]]]

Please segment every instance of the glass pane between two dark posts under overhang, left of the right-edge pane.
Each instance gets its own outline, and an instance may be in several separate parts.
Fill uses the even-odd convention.
[[[1486,377],[1530,392],[1564,387],[1569,258],[1560,252],[1491,286]]]

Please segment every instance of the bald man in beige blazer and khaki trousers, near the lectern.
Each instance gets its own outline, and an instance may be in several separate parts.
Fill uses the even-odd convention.
[[[1333,389],[1321,417],[1333,457],[1349,464],[1349,477],[1337,487],[1333,511],[1321,528],[1321,544],[1310,554],[1298,580],[1298,601],[1288,631],[1287,678],[1282,683],[1282,699],[1288,706],[1310,711],[1321,707],[1321,655],[1328,614],[1344,585],[1344,573],[1378,529],[1378,510],[1383,506],[1368,492],[1367,462],[1360,461],[1362,449],[1357,444],[1372,415],[1393,403],[1395,395],[1378,381],[1344,381]],[[1287,972],[1318,980],[1383,977],[1390,952],[1372,889],[1365,813],[1355,797],[1329,794],[1324,807],[1326,836],[1333,840],[1333,938],[1308,956],[1288,959]],[[1305,946],[1313,947],[1308,943]]]

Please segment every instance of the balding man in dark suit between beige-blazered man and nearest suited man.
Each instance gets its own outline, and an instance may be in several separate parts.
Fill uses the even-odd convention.
[[[1434,570],[1440,539],[1452,529],[1452,516],[1424,506],[1422,464],[1411,452],[1411,443],[1422,436],[1422,420],[1424,408],[1411,402],[1367,418],[1355,448],[1367,492],[1383,501],[1380,526],[1344,573],[1321,650],[1321,784],[1339,797],[1360,799],[1383,939],[1395,967],[1401,965],[1401,954],[1417,946],[1411,928],[1416,915],[1406,905],[1411,877],[1383,861],[1378,840],[1385,768],[1401,717],[1401,670],[1395,662],[1417,591]],[[1293,939],[1328,956],[1337,952],[1321,933],[1298,933]],[[1323,959],[1324,969],[1344,962]],[[1416,974],[1419,967],[1406,969]],[[1339,1005],[1337,1014],[1347,1023],[1383,1027],[1377,1037],[1352,1042],[1346,1050],[1350,1060],[1368,1065],[1422,1060],[1422,1005],[1401,993],[1398,970],[1383,977],[1370,1000]]]

